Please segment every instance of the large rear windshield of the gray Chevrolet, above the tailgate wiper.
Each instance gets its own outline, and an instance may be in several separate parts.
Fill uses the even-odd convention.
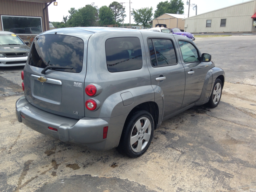
[[[47,66],[72,67],[56,69],[79,73],[82,70],[84,42],[82,39],[66,35],[42,35],[35,39],[28,64],[46,68]]]

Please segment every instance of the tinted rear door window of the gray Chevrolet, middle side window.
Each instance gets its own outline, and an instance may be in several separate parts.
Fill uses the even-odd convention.
[[[154,51],[153,45],[156,52]],[[166,66],[166,65],[174,65],[177,63],[174,46],[171,40],[152,39],[152,42],[151,42],[151,40],[149,39],[148,47],[150,50],[152,66]]]

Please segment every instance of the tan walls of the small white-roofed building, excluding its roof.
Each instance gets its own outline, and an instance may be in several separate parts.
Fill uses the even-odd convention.
[[[174,18],[170,15],[163,14],[157,18],[158,20],[154,19],[152,23],[152,27],[155,27],[156,24],[166,24],[167,28],[176,28],[177,27],[177,18]],[[185,21],[182,19],[178,19],[178,28],[184,30]]]

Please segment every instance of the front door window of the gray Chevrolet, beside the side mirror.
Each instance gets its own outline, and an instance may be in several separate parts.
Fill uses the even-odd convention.
[[[185,63],[199,61],[197,50],[191,43],[186,41],[179,41],[179,44],[182,57]]]

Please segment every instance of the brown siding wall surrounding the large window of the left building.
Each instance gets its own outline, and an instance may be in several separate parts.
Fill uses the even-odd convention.
[[[44,15],[43,9],[45,3],[26,2],[17,0],[0,0],[0,15],[13,15],[13,16],[34,16],[41,17],[43,30],[44,30]],[[48,9],[46,8],[46,27],[49,30]],[[2,21],[0,19],[0,30],[2,30]]]

